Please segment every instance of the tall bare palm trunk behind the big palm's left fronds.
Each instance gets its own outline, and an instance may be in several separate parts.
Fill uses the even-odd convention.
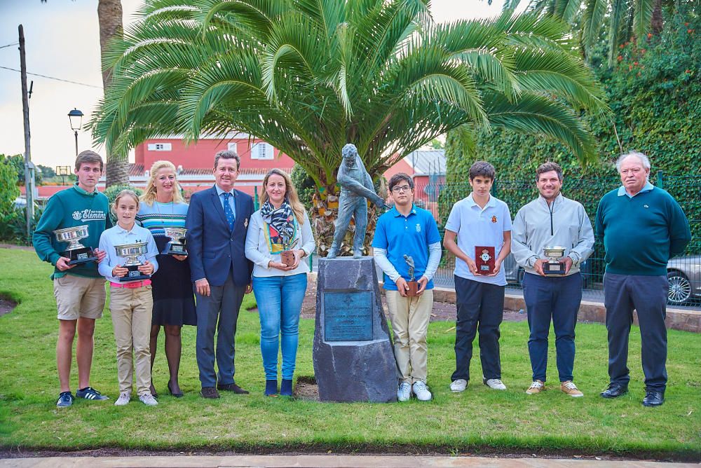
[[[121,36],[122,4],[120,0],[100,0],[97,3],[97,20],[100,23],[100,53],[109,40]],[[102,69],[102,88],[107,90],[111,80],[111,69]],[[107,186],[129,184],[129,160],[127,155],[111,153],[107,148]]]

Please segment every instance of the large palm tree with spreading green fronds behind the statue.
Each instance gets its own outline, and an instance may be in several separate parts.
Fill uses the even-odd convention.
[[[604,92],[564,22],[506,11],[442,25],[427,4],[147,0],[106,53],[93,135],[118,151],[165,135],[265,139],[315,181],[320,252],[348,142],[374,178],[454,128],[538,132],[594,157],[580,111],[606,113]]]

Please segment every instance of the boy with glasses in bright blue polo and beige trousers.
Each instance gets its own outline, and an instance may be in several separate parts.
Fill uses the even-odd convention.
[[[400,172],[389,183],[395,206],[377,220],[372,247],[382,268],[387,307],[394,333],[399,387],[397,399],[428,401],[426,332],[433,310],[433,275],[440,262],[440,234],[433,215],[414,206],[414,181]],[[418,278],[416,296],[409,296],[409,262]]]

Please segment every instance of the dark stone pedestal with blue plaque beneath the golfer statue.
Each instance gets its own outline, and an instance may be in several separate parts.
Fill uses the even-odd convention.
[[[319,260],[313,361],[321,401],[397,401],[372,257]]]

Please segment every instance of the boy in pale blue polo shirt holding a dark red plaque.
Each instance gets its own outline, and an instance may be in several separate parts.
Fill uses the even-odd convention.
[[[450,390],[463,392],[470,380],[472,340],[479,330],[482,382],[506,390],[501,381],[499,326],[503,318],[506,277],[501,263],[511,252],[511,214],[505,202],[489,194],[496,171],[477,161],[470,167],[472,193],[456,202],[445,225],[443,245],[455,255],[455,372]],[[456,240],[457,236],[457,240]],[[475,262],[475,247],[494,247],[494,270],[482,274]],[[484,249],[482,249],[484,250]]]

